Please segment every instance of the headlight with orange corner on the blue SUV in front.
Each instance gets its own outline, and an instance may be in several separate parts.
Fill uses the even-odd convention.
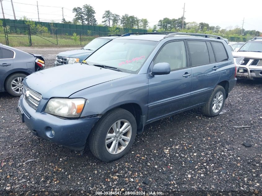
[[[77,118],[80,117],[85,102],[84,98],[53,98],[48,101],[45,112],[66,118]]]

